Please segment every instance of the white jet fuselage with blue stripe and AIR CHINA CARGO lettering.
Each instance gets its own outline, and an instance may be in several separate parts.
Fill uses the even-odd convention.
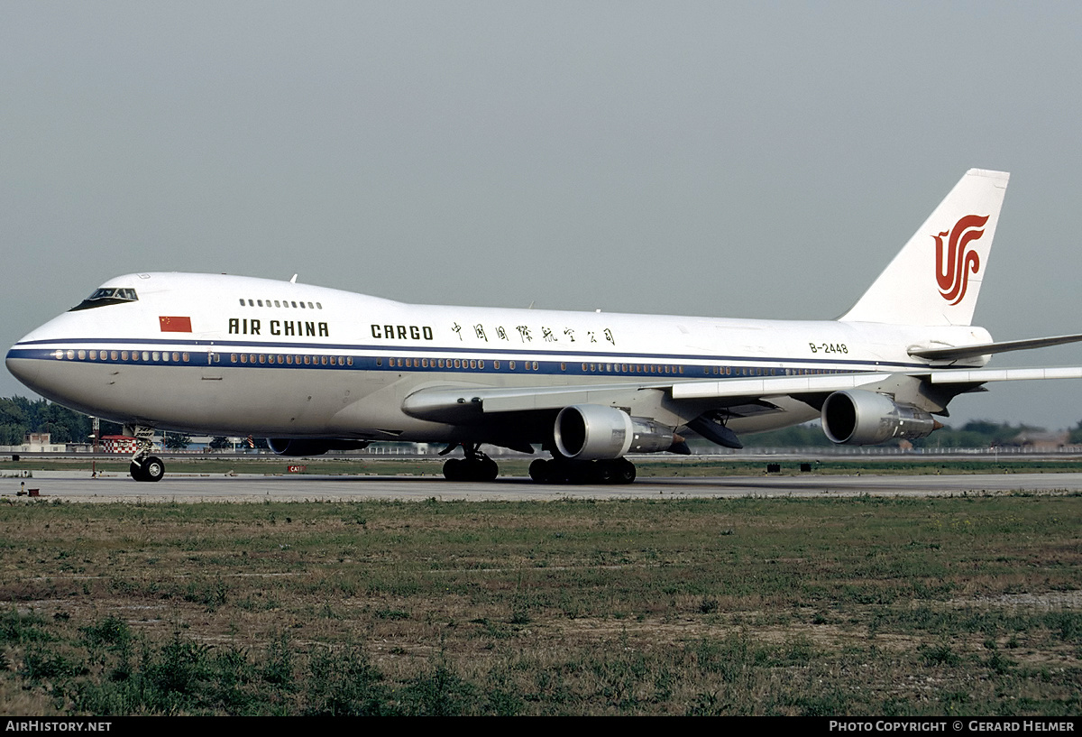
[[[439,386],[903,372],[929,365],[910,346],[990,340],[968,326],[412,305],[225,275],[132,274],[103,287],[137,300],[64,313],[11,348],[9,369],[89,414],[209,434],[447,440],[460,429],[406,413],[406,397]],[[731,426],[817,414],[779,406]]]

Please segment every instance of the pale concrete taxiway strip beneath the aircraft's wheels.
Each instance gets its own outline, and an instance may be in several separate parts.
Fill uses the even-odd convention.
[[[259,502],[423,500],[551,501],[558,499],[671,499],[711,497],[945,496],[1082,491],[1082,473],[973,475],[803,475],[642,478],[628,486],[546,486],[525,477],[491,484],[419,476],[196,476],[172,475],[157,484],[128,476],[90,478],[76,472],[40,472],[0,478],[0,498],[21,488],[43,500],[70,502]],[[26,499],[26,497],[21,497]]]

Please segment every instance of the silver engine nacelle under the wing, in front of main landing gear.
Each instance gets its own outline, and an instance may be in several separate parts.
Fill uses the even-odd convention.
[[[654,453],[676,443],[673,431],[616,407],[572,405],[559,410],[553,429],[556,449],[582,461],[621,458],[624,453]]]

